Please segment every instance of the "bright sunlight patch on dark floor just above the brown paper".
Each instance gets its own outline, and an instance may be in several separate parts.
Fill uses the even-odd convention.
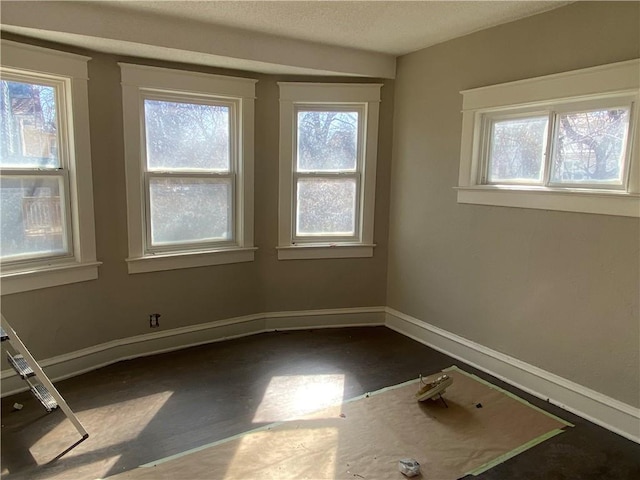
[[[335,406],[340,413],[345,377],[332,375],[284,375],[273,377],[253,417],[255,423],[293,420],[321,408]]]

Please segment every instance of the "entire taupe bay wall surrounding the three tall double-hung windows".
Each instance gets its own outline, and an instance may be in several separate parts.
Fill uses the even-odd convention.
[[[27,41],[45,46],[42,42]],[[60,49],[60,47],[57,47]],[[265,311],[378,306],[386,303],[393,82],[382,89],[374,257],[278,261],[278,88],[276,81],[354,81],[273,77],[182,67],[257,78],[255,241],[251,263],[128,275],[127,216],[120,69],[117,61],[174,66],[69,49],[89,62],[89,107],[99,279],[2,297],[2,313],[34,356],[49,358],[110,340],[149,333],[159,312],[171,329]],[[373,80],[367,80],[373,81]],[[377,82],[380,83],[380,82]],[[153,330],[154,332],[156,330]]]

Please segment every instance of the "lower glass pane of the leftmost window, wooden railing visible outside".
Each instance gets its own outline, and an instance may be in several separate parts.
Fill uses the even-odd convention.
[[[2,177],[0,255],[3,260],[67,253],[61,184],[61,177]]]

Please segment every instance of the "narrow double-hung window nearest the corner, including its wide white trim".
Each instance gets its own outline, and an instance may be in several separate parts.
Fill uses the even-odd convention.
[[[279,86],[278,258],[372,256],[381,85]]]

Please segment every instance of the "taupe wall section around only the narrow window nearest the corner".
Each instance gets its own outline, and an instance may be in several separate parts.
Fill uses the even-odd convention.
[[[385,305],[393,81],[385,80],[381,89],[374,258],[278,261],[274,248],[278,242],[279,101],[276,82],[291,78],[260,78],[259,105],[256,104],[255,224],[256,244],[266,247],[261,248],[259,254],[264,311]],[[294,81],[300,79],[293,78]],[[343,81],[353,82],[354,79]],[[263,149],[265,156],[262,156]]]

